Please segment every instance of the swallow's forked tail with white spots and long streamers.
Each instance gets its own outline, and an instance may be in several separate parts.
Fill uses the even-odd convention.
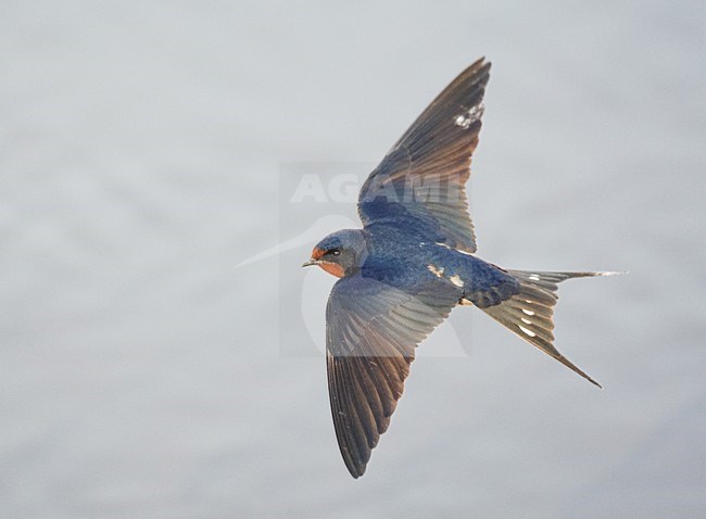
[[[519,292],[494,306],[481,308],[497,322],[533,346],[556,358],[598,388],[601,384],[575,366],[554,347],[554,305],[558,300],[557,283],[570,278],[614,276],[620,273],[538,273],[506,270],[519,281]]]

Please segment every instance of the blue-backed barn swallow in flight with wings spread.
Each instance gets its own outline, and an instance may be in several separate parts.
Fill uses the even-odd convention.
[[[475,255],[465,183],[489,71],[478,60],[431,102],[363,185],[363,228],[325,237],[303,265],[340,278],[326,308],[326,364],[353,478],[390,425],[415,347],[457,305],[477,306],[601,387],[554,347],[553,308],[559,282],[616,273],[510,270]]]

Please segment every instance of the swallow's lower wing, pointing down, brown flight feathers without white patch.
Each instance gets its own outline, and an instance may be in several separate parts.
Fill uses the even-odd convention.
[[[457,301],[441,282],[415,294],[360,275],[333,286],[326,309],[328,390],[339,448],[354,478],[390,423],[415,346]]]

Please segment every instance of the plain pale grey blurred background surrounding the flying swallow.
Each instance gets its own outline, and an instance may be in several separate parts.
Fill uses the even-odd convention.
[[[4,2],[0,516],[703,515],[705,25],[666,1]],[[282,165],[375,164],[480,55],[479,255],[630,270],[560,290],[556,344],[605,389],[458,308],[353,481],[324,358],[287,353],[333,278],[302,303],[306,248],[234,266],[356,218],[288,218]],[[431,353],[449,330],[467,356]]]

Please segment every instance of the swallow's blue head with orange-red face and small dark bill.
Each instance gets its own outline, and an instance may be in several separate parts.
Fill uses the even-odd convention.
[[[360,229],[343,229],[328,235],[312,251],[302,267],[318,265],[337,278],[350,276],[361,268],[366,255],[365,237]]]

